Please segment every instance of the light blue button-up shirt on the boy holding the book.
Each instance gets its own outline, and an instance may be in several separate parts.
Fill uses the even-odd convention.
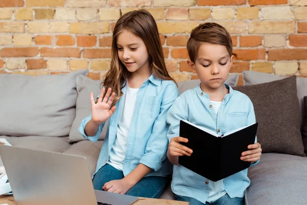
[[[225,86],[229,89],[229,94],[225,95],[217,115],[211,106],[209,95],[201,90],[200,85],[182,93],[167,113],[169,141],[171,138],[179,136],[181,119],[215,131],[219,135],[256,122],[250,98],[241,92],[234,91],[228,85]],[[202,159],[199,163],[203,163]],[[206,165],[203,167],[210,169]],[[209,186],[206,181],[209,180],[183,166],[174,165],[173,167],[171,188],[177,195],[192,197],[206,203],[209,195]],[[245,190],[249,185],[247,169],[224,179],[224,189],[231,198],[244,197]]]

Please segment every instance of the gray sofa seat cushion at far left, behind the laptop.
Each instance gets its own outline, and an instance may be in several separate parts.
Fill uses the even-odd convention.
[[[69,144],[65,137],[48,137],[48,136],[26,136],[26,137],[11,137],[0,136],[5,138],[12,146],[26,148],[31,150],[48,151],[48,152],[63,152],[67,150]],[[0,158],[0,167],[3,166]]]

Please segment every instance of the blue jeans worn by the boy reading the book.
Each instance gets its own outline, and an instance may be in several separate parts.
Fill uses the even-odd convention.
[[[196,200],[192,197],[187,197],[187,196],[180,196],[175,194],[176,199],[178,201],[187,201],[190,202],[190,205],[209,205],[210,203],[202,203],[199,200]],[[221,198],[217,199],[211,205],[244,205],[245,199],[244,198],[230,198],[228,194],[225,194]]]

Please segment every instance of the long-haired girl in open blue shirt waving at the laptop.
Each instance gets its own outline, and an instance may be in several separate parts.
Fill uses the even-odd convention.
[[[149,12],[131,11],[119,18],[111,68],[102,85],[97,103],[91,93],[92,114],[79,127],[85,138],[97,141],[108,120],[94,189],[158,198],[170,173],[166,113],[179,91]]]

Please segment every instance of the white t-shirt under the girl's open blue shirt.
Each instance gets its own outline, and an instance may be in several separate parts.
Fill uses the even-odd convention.
[[[118,121],[115,141],[107,161],[109,165],[121,171],[123,171],[123,163],[127,151],[129,128],[136,105],[138,91],[139,88],[129,88],[127,84],[126,92],[123,94],[121,99],[124,100],[122,115]]]

